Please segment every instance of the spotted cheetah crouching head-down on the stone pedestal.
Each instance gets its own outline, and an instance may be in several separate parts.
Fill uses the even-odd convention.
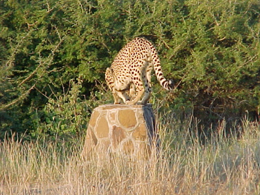
[[[152,92],[151,70],[153,68],[161,86],[166,90],[172,90],[173,82],[164,78],[160,59],[153,44],[146,38],[140,37],[128,42],[105,73],[105,80],[112,91],[114,104],[119,104],[120,98],[128,105],[146,104]],[[144,97],[140,101],[144,92]]]

